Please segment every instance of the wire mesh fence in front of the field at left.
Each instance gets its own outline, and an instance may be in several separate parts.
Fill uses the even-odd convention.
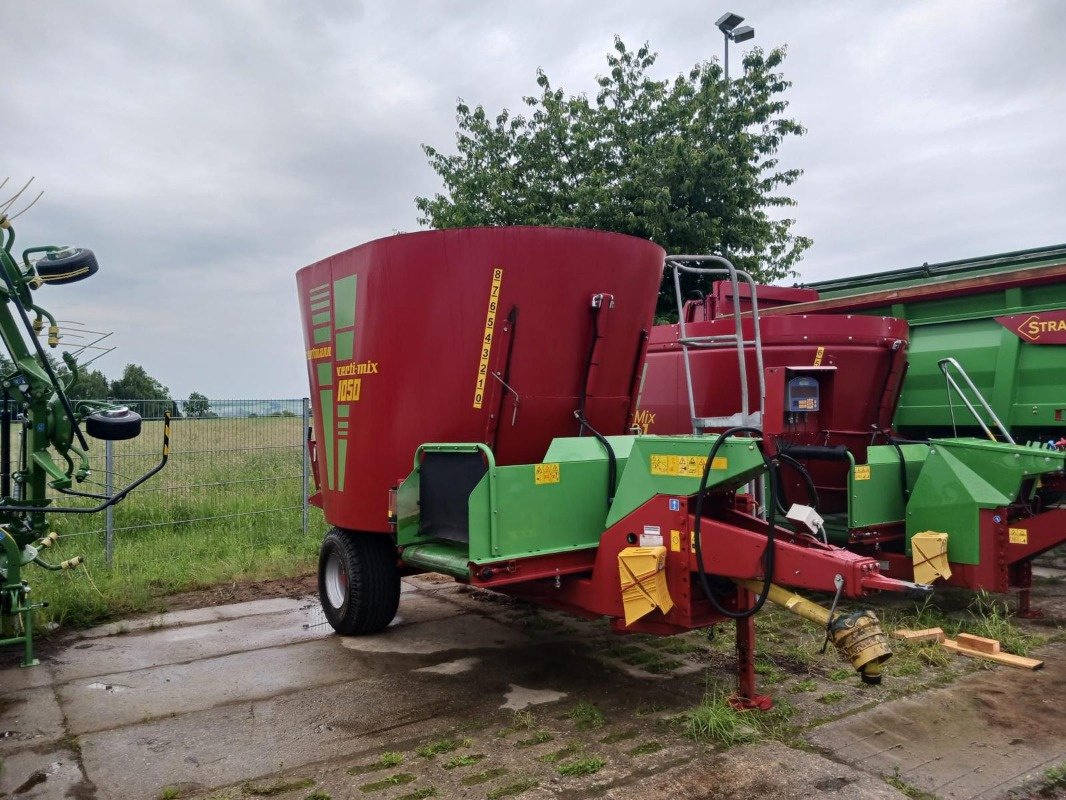
[[[102,514],[52,516],[61,539],[102,538],[111,565],[124,540],[144,534],[177,544],[175,537],[223,528],[308,532],[306,398],[115,402],[142,415],[141,435],[91,441],[90,478],[75,487],[110,496],[158,464],[171,412],[166,467]]]

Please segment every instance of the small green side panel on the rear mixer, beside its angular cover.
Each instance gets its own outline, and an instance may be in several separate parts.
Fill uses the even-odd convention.
[[[926,445],[900,445],[900,450],[906,465],[906,487],[910,490],[930,449]],[[869,478],[856,480],[854,464],[847,474],[847,527],[851,529],[900,523],[904,517],[899,453],[889,446],[871,447],[867,452],[868,461],[859,465],[859,474],[869,475]]]

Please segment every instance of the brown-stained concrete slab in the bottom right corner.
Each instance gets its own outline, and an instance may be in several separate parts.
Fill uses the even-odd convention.
[[[1004,797],[1066,762],[1066,644],[1039,657],[1046,660],[1039,672],[974,673],[824,725],[808,741],[946,800]]]

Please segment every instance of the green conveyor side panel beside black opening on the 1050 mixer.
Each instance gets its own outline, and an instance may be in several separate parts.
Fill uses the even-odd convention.
[[[497,467],[470,493],[470,560],[546,556],[599,545],[607,516],[607,458],[560,464],[537,483],[532,464]],[[496,537],[492,518],[496,519]]]

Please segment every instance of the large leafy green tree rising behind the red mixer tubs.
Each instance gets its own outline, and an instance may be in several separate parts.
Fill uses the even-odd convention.
[[[492,117],[459,100],[457,153],[423,145],[446,194],[416,198],[419,222],[614,230],[675,254],[728,253],[762,281],[795,274],[811,241],[779,214],[795,205],[782,189],[802,171],[782,169],[777,151],[805,132],[785,116],[784,60],[784,48],[755,48],[729,82],[716,62],[657,80],[656,53],[615,37],[593,99],[553,89],[538,70],[528,115]],[[664,276],[660,310],[675,305]]]

